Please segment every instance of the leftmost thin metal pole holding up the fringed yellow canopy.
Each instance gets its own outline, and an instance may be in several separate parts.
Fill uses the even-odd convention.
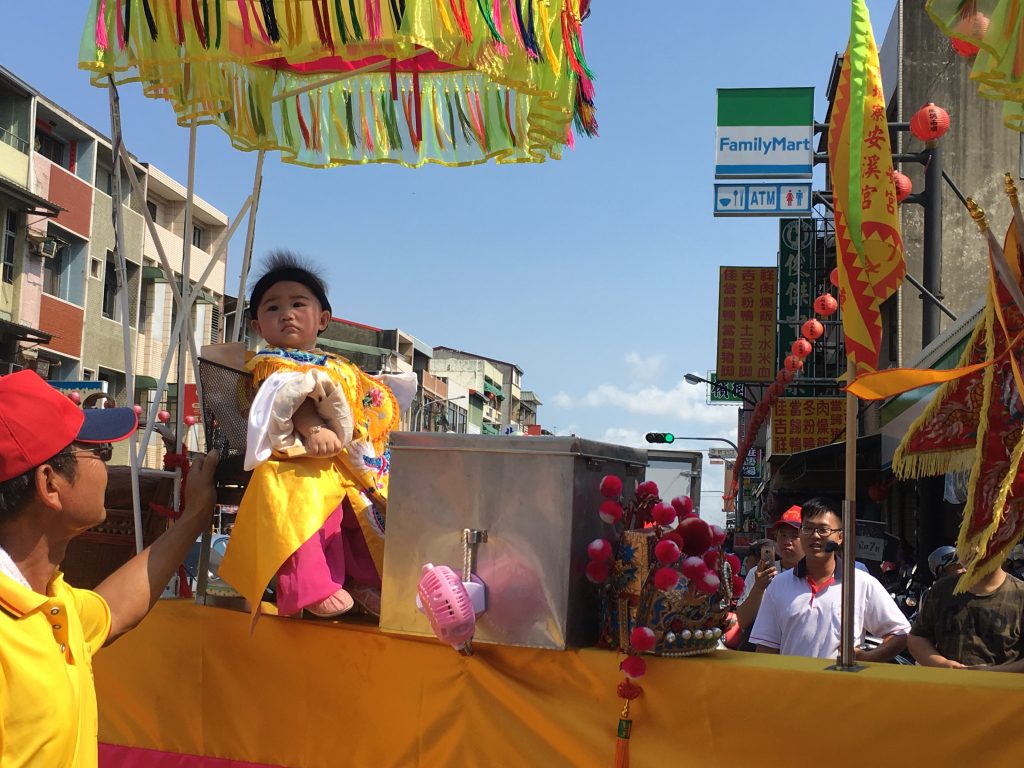
[[[106,93],[111,108],[111,140],[114,154],[114,200],[111,201],[111,218],[113,219],[115,233],[114,263],[118,282],[118,302],[121,309],[121,337],[125,348],[125,388],[128,391],[128,404],[134,406],[135,365],[132,355],[131,329],[129,328],[128,265],[125,259],[125,203],[124,196],[121,194],[121,147],[123,145],[121,133],[121,98],[118,95],[117,86],[114,85],[113,77],[108,77]],[[128,163],[130,162],[128,160]],[[109,268],[105,263],[103,268]],[[142,536],[142,500],[138,482],[139,465],[138,444],[133,438],[128,440],[128,466],[131,470],[131,508],[132,519],[135,523],[136,554],[141,552],[145,546]]]

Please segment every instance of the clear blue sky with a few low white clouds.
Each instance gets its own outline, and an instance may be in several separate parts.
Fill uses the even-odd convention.
[[[880,45],[895,4],[867,0]],[[106,94],[77,69],[86,3],[58,5],[43,20],[11,4],[0,63],[109,133]],[[735,441],[735,409],[705,404],[682,377],[715,366],[719,266],[774,264],[777,221],[712,216],[716,89],[813,86],[823,120],[849,23],[842,0],[594,0],[599,138],[529,166],[311,170],[268,158],[255,253],[287,247],[324,265],[340,316],[516,362],[558,433]],[[183,181],[187,132],[170,108],[133,85],[121,102],[128,148]],[[200,129],[197,191],[229,216],[254,167]],[[229,291],[241,250],[240,237]],[[715,521],[722,471],[705,469],[700,506]]]

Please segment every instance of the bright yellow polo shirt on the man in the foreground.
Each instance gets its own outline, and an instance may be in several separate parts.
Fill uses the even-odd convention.
[[[47,593],[0,573],[0,768],[96,765],[92,654],[111,610],[60,571]]]

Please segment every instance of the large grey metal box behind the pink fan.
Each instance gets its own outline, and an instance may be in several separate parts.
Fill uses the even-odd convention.
[[[579,437],[391,435],[381,629],[432,636],[416,607],[425,563],[463,564],[463,529],[486,530],[475,573],[487,609],[474,642],[580,647],[597,639],[587,543],[601,535],[598,485],[630,487],[646,452]]]

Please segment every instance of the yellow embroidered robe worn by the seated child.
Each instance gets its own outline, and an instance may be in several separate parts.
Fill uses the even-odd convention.
[[[253,470],[239,506],[220,578],[234,587],[256,612],[278,569],[319,530],[343,499],[355,512],[367,548],[381,573],[384,511],[382,505],[372,505],[365,492],[387,499],[387,438],[399,417],[394,394],[344,357],[319,350],[268,348],[254,355],[246,368],[256,386],[282,373],[298,375],[292,377],[293,381],[303,375],[315,378],[316,394],[310,392],[310,396],[317,402],[317,411],[339,432],[345,432],[346,427],[335,427],[335,417],[346,415],[351,433],[339,434],[344,450],[338,456],[304,457],[301,438],[291,429],[290,419],[279,419],[279,427],[281,422],[284,426],[272,440],[272,454]],[[289,417],[305,396],[283,406]],[[253,418],[251,414],[251,425]],[[269,418],[272,421],[273,417]]]

